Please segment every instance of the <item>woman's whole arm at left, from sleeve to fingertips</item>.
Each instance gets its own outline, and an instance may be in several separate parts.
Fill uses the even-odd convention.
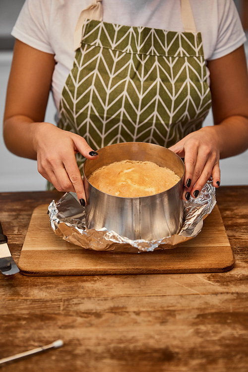
[[[85,198],[75,154],[92,158],[84,138],[44,123],[54,55],[16,41],[6,94],[3,136],[14,154],[37,159],[38,171],[59,191]],[[95,158],[95,157],[93,157]]]

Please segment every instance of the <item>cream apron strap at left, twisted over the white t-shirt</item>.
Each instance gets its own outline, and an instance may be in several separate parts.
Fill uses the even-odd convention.
[[[103,20],[103,6],[101,1],[102,0],[92,0],[91,4],[81,11],[74,31],[74,51],[81,47],[84,20],[86,18],[95,19],[97,21]]]

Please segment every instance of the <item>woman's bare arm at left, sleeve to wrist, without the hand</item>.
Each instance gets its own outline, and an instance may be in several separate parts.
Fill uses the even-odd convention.
[[[54,55],[16,40],[3,118],[5,144],[15,155],[37,157],[33,139],[45,118],[54,66]]]

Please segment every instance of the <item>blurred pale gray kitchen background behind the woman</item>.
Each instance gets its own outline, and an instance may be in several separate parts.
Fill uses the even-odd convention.
[[[248,1],[248,0],[245,0]],[[5,93],[12,60],[14,40],[10,32],[18,16],[24,0],[0,0],[0,132],[2,133],[2,117]],[[235,1],[241,12],[240,0]],[[248,36],[248,32],[247,32]],[[246,43],[248,60],[248,42]],[[54,122],[55,106],[52,97],[45,120]],[[206,118],[204,125],[212,124],[212,113]],[[221,160],[221,185],[248,185],[248,151],[241,155]],[[0,192],[45,190],[46,180],[38,173],[34,160],[17,157],[10,153],[0,135]]]

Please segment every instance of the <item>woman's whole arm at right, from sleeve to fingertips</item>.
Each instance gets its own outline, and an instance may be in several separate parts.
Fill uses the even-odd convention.
[[[214,126],[188,134],[170,149],[185,158],[184,198],[195,197],[210,175],[220,184],[219,159],[248,148],[248,71],[244,47],[208,62]],[[190,186],[189,186],[190,184]]]

